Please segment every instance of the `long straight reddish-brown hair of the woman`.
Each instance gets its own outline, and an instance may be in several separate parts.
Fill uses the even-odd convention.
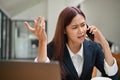
[[[64,34],[64,31],[66,29],[66,26],[68,26],[71,23],[72,19],[77,14],[80,14],[85,18],[84,13],[80,9],[75,7],[66,7],[60,13],[56,25],[55,35],[53,37],[53,40],[51,41],[51,43],[54,45],[53,59],[59,61],[62,73],[64,73],[64,69],[62,66],[64,46],[67,43],[67,35]]]

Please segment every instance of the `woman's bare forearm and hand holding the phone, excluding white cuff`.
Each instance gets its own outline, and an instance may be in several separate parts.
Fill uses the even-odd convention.
[[[94,41],[101,45],[104,52],[105,61],[109,66],[112,66],[114,64],[114,58],[112,56],[108,42],[95,26],[90,26],[90,31],[95,35]]]

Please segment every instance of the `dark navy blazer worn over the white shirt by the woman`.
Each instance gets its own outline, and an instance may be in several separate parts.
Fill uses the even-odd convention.
[[[93,41],[85,40],[83,42],[83,50],[84,50],[83,53],[84,63],[83,63],[82,74],[79,77],[70,58],[69,51],[65,45],[64,48],[65,52],[63,55],[63,66],[66,71],[65,80],[90,80],[94,66],[96,66],[104,76],[107,76],[104,71],[104,54],[102,52],[101,47]],[[53,52],[54,52],[54,45],[48,44],[47,53],[49,59],[52,58]],[[110,77],[112,80],[118,80],[117,74],[114,76],[107,76],[107,77]]]

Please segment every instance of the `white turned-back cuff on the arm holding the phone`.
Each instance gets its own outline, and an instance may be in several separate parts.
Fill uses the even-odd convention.
[[[114,64],[112,66],[109,66],[104,59],[104,69],[105,69],[105,72],[108,76],[115,75],[118,71],[118,66],[117,66],[116,59],[114,58]]]

